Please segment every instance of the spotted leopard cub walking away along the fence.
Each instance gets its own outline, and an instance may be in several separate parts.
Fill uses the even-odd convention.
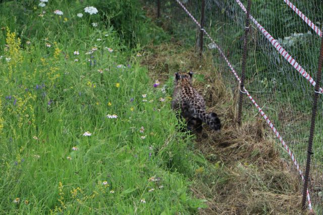
[[[187,121],[187,128],[202,131],[202,122],[211,129],[220,130],[221,122],[216,113],[205,112],[205,102],[192,86],[193,73],[175,73],[175,89],[172,109],[180,110],[181,117]]]

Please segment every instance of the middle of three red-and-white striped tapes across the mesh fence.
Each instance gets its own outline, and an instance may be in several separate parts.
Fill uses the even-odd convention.
[[[241,7],[241,9],[247,13],[246,8],[243,6],[243,4],[240,2],[240,0],[236,0],[238,5]],[[270,33],[268,33],[258,22],[255,20],[251,15],[250,19],[252,22],[257,26],[257,28],[260,30],[260,32],[272,43],[272,45],[277,49],[277,51],[307,80],[309,83],[313,86],[316,85],[316,82],[314,79],[306,73],[305,69],[281,46],[281,44],[272,37]],[[323,93],[323,89],[319,88],[319,92]]]

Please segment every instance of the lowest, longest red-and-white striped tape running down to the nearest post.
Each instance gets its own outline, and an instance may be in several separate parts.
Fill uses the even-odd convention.
[[[185,6],[179,1],[179,0],[175,0],[183,9],[184,11],[192,18],[192,20],[196,23],[196,25],[198,25],[201,28],[201,25],[197,22],[197,20],[191,15],[191,13],[185,8]],[[250,16],[251,18],[251,16]],[[233,66],[231,65],[231,63],[229,62],[228,58],[225,56],[225,54],[223,53],[222,49],[214,42],[214,40],[210,37],[210,35],[205,31],[205,29],[201,29],[205,35],[211,40],[211,42],[216,46],[216,48],[219,50],[220,54],[222,57],[224,57],[224,59],[227,61],[228,66],[230,67],[233,75],[236,77],[236,79],[238,80],[239,83],[241,83],[241,80],[238,76],[238,74],[236,73],[235,69],[233,68]],[[290,148],[287,146],[286,142],[283,140],[282,136],[279,134],[278,130],[275,128],[274,124],[271,122],[271,120],[267,117],[267,115],[263,112],[263,110],[260,108],[260,106],[255,102],[255,100],[251,97],[251,95],[249,94],[249,92],[244,88],[245,93],[247,94],[248,98],[251,100],[251,102],[255,105],[255,107],[258,109],[258,112],[261,114],[261,116],[266,120],[267,124],[271,127],[271,129],[274,131],[275,135],[277,136],[277,138],[281,141],[281,144],[283,146],[283,148],[286,150],[286,152],[289,154],[289,156],[291,157],[296,169],[298,170],[302,181],[304,182],[304,176],[302,173],[302,170],[298,164],[298,162],[296,161],[295,155],[294,153],[290,150]],[[307,189],[307,201],[308,201],[308,207],[310,211],[313,211],[312,209],[312,204],[311,204],[311,200],[310,200],[310,196],[309,196],[309,191]]]

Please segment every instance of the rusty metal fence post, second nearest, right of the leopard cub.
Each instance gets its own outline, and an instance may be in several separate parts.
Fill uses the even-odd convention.
[[[249,32],[249,21],[250,21],[250,8],[251,0],[248,0],[247,5],[247,15],[246,15],[246,25],[244,29],[243,37],[243,53],[242,53],[242,65],[241,65],[241,83],[240,83],[240,93],[239,93],[239,106],[238,106],[238,124],[241,125],[242,118],[242,97],[244,94],[244,79],[245,79],[245,70],[246,70],[246,60],[247,60],[247,45],[248,45],[248,32]]]

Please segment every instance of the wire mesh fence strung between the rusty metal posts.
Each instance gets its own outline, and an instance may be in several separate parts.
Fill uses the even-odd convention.
[[[153,1],[150,3],[154,4]],[[180,3],[199,21],[201,1],[181,0]],[[161,16],[168,20],[173,33],[187,44],[198,46],[200,28],[177,1],[162,1],[161,7]],[[203,28],[220,46],[239,77],[246,17],[244,7],[247,7],[247,0],[205,0]],[[285,140],[302,172],[305,170],[313,85],[318,69],[322,9],[319,0],[258,0],[252,1],[250,12],[244,86],[271,118],[280,132],[278,136],[274,131],[273,136]],[[228,88],[235,91],[238,82],[216,44],[204,34],[204,50],[213,54],[214,63]],[[321,82],[319,86],[322,86]],[[246,102],[249,101],[245,99],[244,104]],[[255,114],[259,111],[248,105],[243,108],[249,108]],[[319,95],[309,178],[311,200],[317,211],[323,209],[322,128],[323,104],[322,95]],[[279,138],[277,141],[282,142]],[[283,152],[281,147],[277,150],[283,159],[290,161],[289,157],[292,157],[293,160],[293,156]]]

